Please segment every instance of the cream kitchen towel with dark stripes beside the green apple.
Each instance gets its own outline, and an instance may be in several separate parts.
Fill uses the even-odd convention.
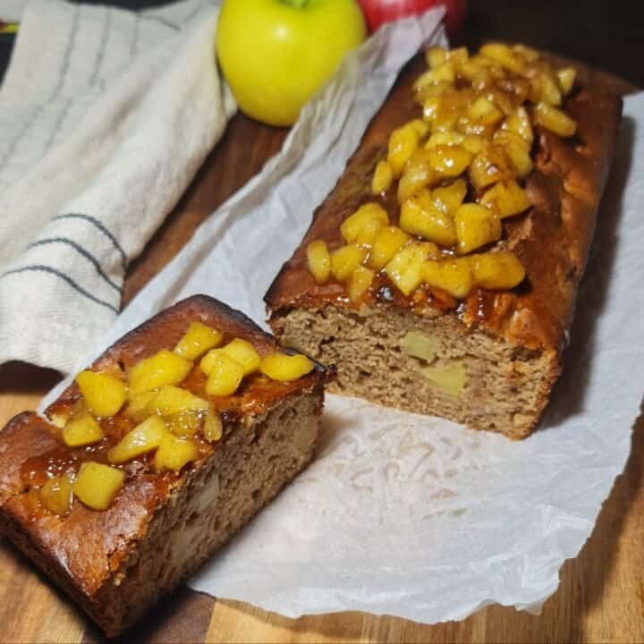
[[[114,320],[128,262],[233,114],[217,11],[25,3],[0,88],[0,363],[67,372]]]

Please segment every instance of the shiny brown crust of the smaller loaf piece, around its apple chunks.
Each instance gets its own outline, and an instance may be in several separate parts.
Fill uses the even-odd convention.
[[[239,311],[219,301],[196,296],[166,309],[157,317],[134,329],[109,348],[91,369],[127,368],[160,349],[172,349],[191,321],[200,320],[216,326],[224,337],[241,337],[254,344],[260,355],[278,348],[275,338],[263,332]],[[195,369],[189,376],[188,388],[208,397],[203,390],[204,378]],[[131,462],[125,485],[105,512],[95,512],[74,503],[64,518],[34,506],[28,494],[30,481],[67,466],[77,467],[82,460],[104,459],[106,450],[128,427],[120,416],[104,425],[106,440],[97,449],[67,448],[58,430],[33,412],[16,416],[0,432],[0,531],[50,574],[79,601],[97,622],[106,628],[101,617],[105,607],[100,597],[106,584],[113,583],[135,551],[157,509],[165,504],[173,490],[181,487],[208,464],[209,458],[225,447],[228,436],[241,423],[265,414],[280,402],[301,394],[321,397],[325,369],[317,366],[311,373],[291,383],[250,378],[240,395],[225,399],[209,398],[222,410],[224,437],[216,444],[199,445],[199,460],[182,470],[179,477],[157,473],[143,462]],[[185,386],[185,385],[184,385]],[[47,409],[47,413],[69,410],[80,397],[74,383]],[[121,412],[123,413],[123,412]],[[123,420],[124,422],[124,420]],[[55,469],[55,471],[54,471]],[[109,628],[109,626],[107,627]]]

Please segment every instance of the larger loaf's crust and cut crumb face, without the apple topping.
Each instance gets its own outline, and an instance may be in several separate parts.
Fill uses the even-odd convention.
[[[269,322],[284,343],[336,365],[330,391],[522,438],[562,368],[621,99],[578,82],[563,99],[577,125],[574,137],[535,127],[533,170],[524,180],[530,208],[503,218],[502,237],[489,253],[513,253],[525,271],[521,284],[476,287],[462,297],[421,284],[406,295],[381,272],[352,301],[351,283],[332,275],[320,284],[311,274],[309,244],[324,241],[333,256],[346,242],[343,222],[366,203],[384,208],[391,223],[400,221],[399,195],[391,189],[375,195],[373,178],[392,130],[422,114],[411,100],[421,67],[416,61],[405,72],[276,276],[266,296]]]

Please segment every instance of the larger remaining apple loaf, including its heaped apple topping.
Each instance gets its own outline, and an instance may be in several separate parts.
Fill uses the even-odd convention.
[[[330,391],[522,438],[562,368],[621,97],[520,45],[429,49],[267,292]]]

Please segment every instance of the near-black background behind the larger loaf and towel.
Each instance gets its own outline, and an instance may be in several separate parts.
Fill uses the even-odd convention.
[[[165,3],[89,0],[88,4],[140,8]],[[643,0],[470,0],[468,21],[459,39],[470,47],[491,38],[521,41],[612,72],[644,87],[643,37]],[[0,37],[0,78],[12,45],[12,36]]]

